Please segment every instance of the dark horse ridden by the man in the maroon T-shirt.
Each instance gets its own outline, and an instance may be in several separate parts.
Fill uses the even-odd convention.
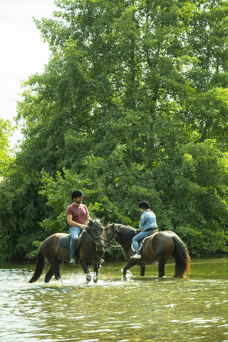
[[[94,282],[97,282],[97,274],[100,267],[101,259],[105,254],[104,238],[105,231],[103,227],[105,216],[101,220],[89,219],[89,224],[81,237],[81,243],[76,252],[76,263],[81,264],[83,271],[86,274],[86,282],[92,278],[89,271],[89,265],[93,266],[95,276]],[[33,276],[28,282],[37,281],[41,274],[45,271],[46,260],[51,267],[45,275],[45,282],[49,282],[53,275],[56,280],[61,280],[59,266],[63,261],[70,261],[70,250],[59,245],[58,241],[63,236],[63,233],[56,233],[46,238],[38,252],[36,267]]]

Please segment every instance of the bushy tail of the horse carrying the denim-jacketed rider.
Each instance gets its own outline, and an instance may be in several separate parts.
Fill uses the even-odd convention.
[[[173,257],[176,262],[173,277],[183,277],[184,275],[189,274],[191,271],[191,259],[188,254],[187,246],[184,244],[184,242],[176,236],[173,236],[173,241],[175,244]]]

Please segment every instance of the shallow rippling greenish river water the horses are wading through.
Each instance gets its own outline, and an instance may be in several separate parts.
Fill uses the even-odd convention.
[[[106,261],[98,283],[85,285],[79,266],[28,284],[34,262],[0,263],[0,341],[228,342],[228,255],[193,258],[191,275],[173,279],[174,262],[130,269]],[[92,271],[92,268],[91,268]]]

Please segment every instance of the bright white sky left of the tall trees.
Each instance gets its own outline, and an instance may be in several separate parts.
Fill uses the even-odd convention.
[[[13,121],[21,80],[42,73],[48,63],[48,44],[42,42],[32,17],[50,18],[54,10],[54,0],[0,0],[0,118]],[[21,137],[17,130],[11,147]]]

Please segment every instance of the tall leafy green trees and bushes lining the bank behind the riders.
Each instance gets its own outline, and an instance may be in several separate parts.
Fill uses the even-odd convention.
[[[56,4],[35,20],[51,58],[23,84],[24,140],[1,167],[0,259],[68,232],[75,188],[105,223],[136,227],[147,200],[190,253],[227,252],[227,2]]]

